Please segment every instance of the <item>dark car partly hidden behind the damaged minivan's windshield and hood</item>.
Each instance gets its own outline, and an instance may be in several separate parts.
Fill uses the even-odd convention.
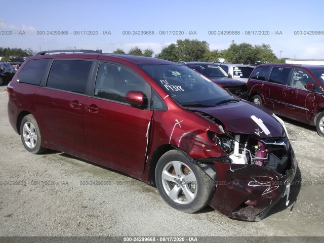
[[[210,62],[178,62],[183,64],[206,77],[222,88],[228,90],[238,98],[247,98],[247,86],[245,82],[231,78],[222,67]]]

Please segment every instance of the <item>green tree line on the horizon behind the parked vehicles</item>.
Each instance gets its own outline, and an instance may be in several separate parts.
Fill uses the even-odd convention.
[[[113,53],[126,54],[124,50],[117,49]],[[10,55],[32,56],[35,52],[28,48],[27,50],[17,48],[0,48],[0,56],[3,61],[8,61]],[[154,52],[152,49],[142,50],[134,47],[128,51],[128,54],[152,57]],[[170,44],[155,55],[155,58],[165,59],[173,62],[219,62],[221,58],[227,63],[285,63],[287,58],[277,58],[273,53],[270,45],[251,45],[249,43],[232,43],[226,50],[210,50],[206,41],[198,41],[197,39],[178,39],[176,43]]]

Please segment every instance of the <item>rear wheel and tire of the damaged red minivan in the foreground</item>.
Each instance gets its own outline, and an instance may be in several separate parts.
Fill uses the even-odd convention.
[[[42,136],[39,131],[37,121],[32,114],[26,115],[22,118],[20,124],[20,137],[25,148],[33,153],[38,154],[46,150],[42,147]]]

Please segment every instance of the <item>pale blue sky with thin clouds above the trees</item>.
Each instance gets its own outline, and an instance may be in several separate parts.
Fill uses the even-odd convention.
[[[206,41],[210,50],[227,49],[233,42],[264,43],[278,58],[324,59],[322,0],[1,2],[3,48],[127,53],[137,46],[158,54],[189,38]],[[65,34],[54,34],[57,31]]]

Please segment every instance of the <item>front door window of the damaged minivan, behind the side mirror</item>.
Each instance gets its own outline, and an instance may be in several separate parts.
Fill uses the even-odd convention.
[[[129,91],[142,91],[144,93],[145,82],[125,67],[100,63],[96,78],[94,96],[125,102],[125,96]]]

